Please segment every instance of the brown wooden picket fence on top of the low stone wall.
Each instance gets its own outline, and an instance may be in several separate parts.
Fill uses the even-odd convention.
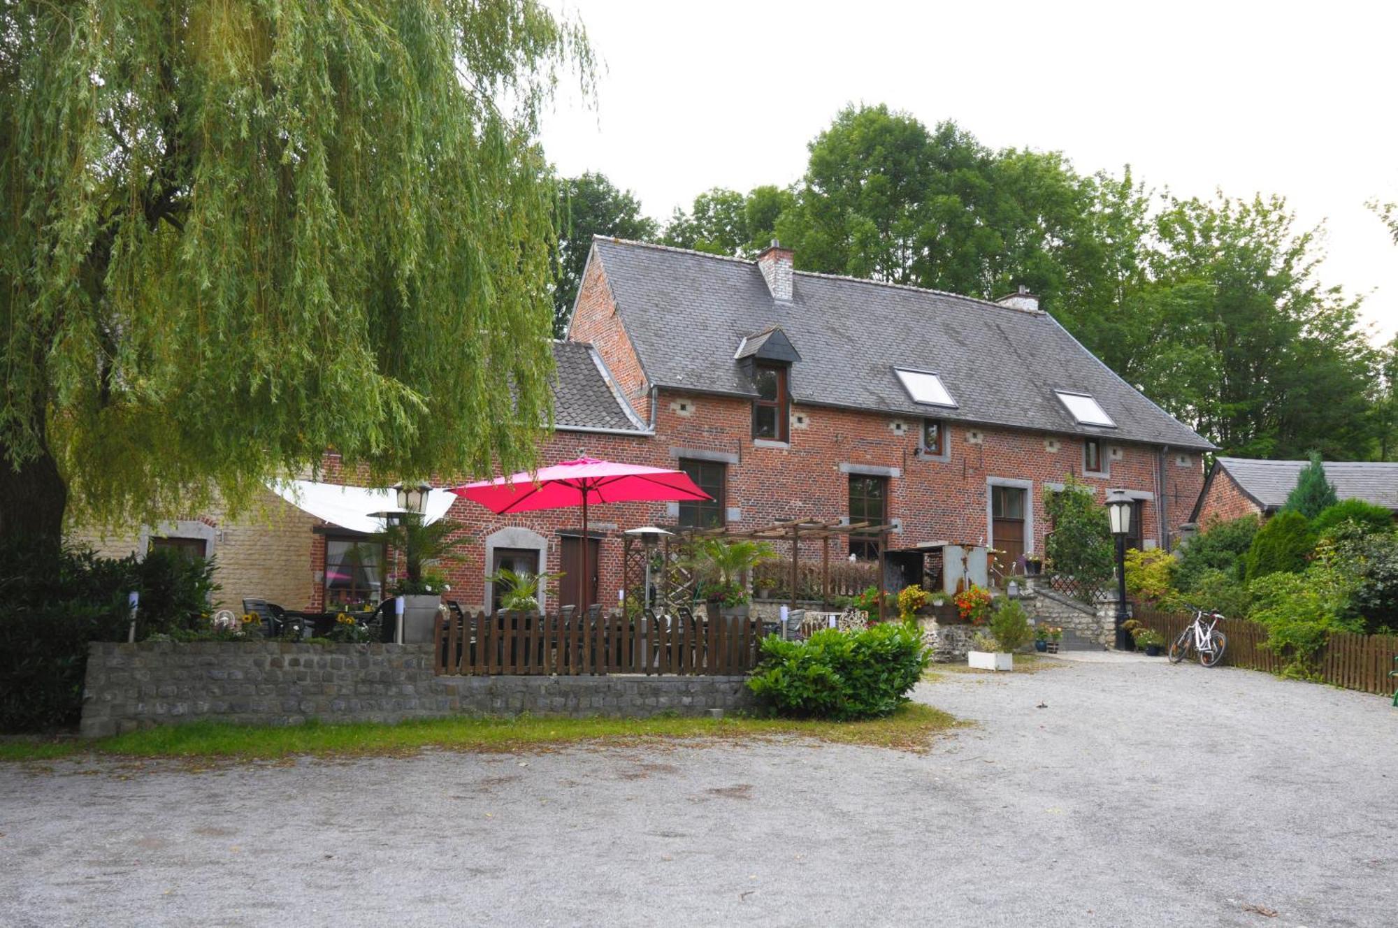
[[[438,622],[439,675],[681,674],[726,676],[756,665],[756,619],[498,612]]]

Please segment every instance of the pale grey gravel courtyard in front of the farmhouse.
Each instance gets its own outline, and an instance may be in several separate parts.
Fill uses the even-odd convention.
[[[1398,922],[1387,700],[1144,658],[917,699],[974,724],[925,755],[0,764],[0,925]]]

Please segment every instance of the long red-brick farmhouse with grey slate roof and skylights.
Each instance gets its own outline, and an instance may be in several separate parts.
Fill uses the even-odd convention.
[[[714,502],[594,507],[589,598],[617,601],[619,532],[644,524],[868,520],[895,525],[891,552],[991,544],[1014,560],[1043,551],[1043,496],[1067,475],[1099,499],[1121,489],[1137,500],[1134,545],[1177,541],[1212,446],[1033,295],[990,302],[793,263],[776,243],[747,261],[593,242],[568,337],[555,342],[556,428],[540,457],[684,468]],[[333,456],[324,471],[354,482]],[[459,500],[449,517],[470,537],[447,570],[450,597],[470,608],[491,607],[487,574],[498,566],[568,570],[583,544],[570,510],[496,517]],[[99,546],[187,545],[218,558],[233,608],[243,597],[320,608],[382,595],[393,555],[365,559],[361,542],[268,493],[256,517],[196,514]],[[879,542],[842,544],[842,558],[871,558]],[[562,587],[565,602],[576,598]]]

